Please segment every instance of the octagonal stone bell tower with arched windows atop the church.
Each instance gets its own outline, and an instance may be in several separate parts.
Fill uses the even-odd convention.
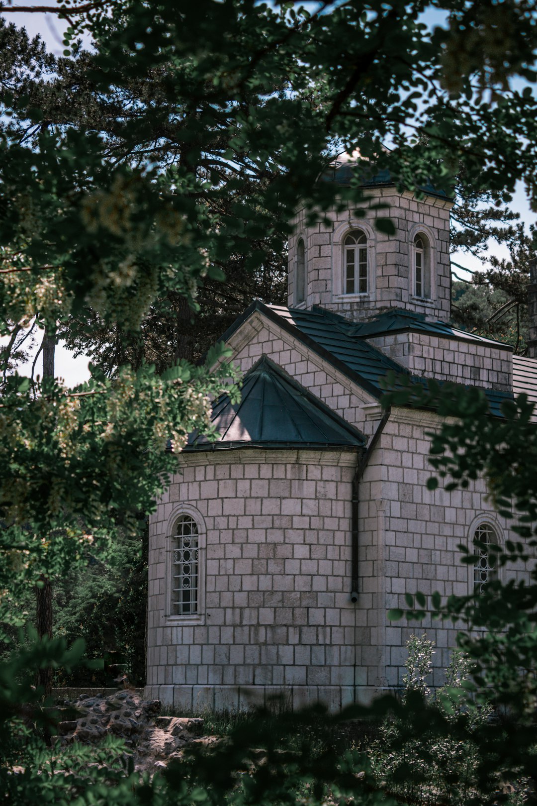
[[[349,185],[357,160],[337,157],[320,177]],[[364,181],[363,218],[353,209],[328,210],[330,223],[306,224],[297,210],[289,240],[288,305],[320,305],[354,322],[386,308],[423,314],[446,322],[451,313],[449,211],[453,202],[431,185],[423,198],[399,193],[387,171]],[[375,210],[378,203],[389,208]],[[394,235],[375,228],[376,218],[390,218]]]

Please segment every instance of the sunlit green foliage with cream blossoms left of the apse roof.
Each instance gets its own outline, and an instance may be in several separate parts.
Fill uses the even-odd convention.
[[[211,355],[213,362],[215,355]],[[221,373],[229,372],[225,368]],[[180,364],[157,377],[124,370],[66,393],[12,376],[0,409],[2,588],[62,577],[84,547],[108,545],[118,526],[151,506],[196,426],[210,432],[209,391],[221,374]],[[36,396],[33,396],[33,393]]]

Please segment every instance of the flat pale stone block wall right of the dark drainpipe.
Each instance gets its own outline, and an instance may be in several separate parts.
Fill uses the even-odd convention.
[[[487,500],[483,480],[468,490],[428,490],[432,468],[427,434],[438,426],[439,418],[432,413],[394,409],[361,483],[361,565],[364,552],[366,557],[369,552],[370,558],[377,558],[376,580],[370,578],[370,584],[377,584],[378,643],[386,647],[381,663],[385,668],[383,684],[388,688],[401,686],[405,643],[411,634],[422,634],[423,630],[436,642],[431,682],[436,686],[444,683],[443,671],[462,625],[430,618],[420,623],[389,622],[382,620],[381,613],[390,608],[407,609],[405,593],[422,592],[430,606],[435,591],[443,597],[472,592],[473,566],[461,563],[457,546],[461,543],[473,549],[480,517],[493,526],[502,542],[516,539],[510,524]],[[522,564],[502,568],[500,574],[504,581],[529,580]],[[361,580],[361,589],[367,584],[367,578]]]

